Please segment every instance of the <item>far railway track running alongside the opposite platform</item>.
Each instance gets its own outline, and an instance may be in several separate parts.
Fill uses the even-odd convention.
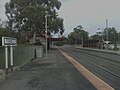
[[[113,59],[109,59],[107,57],[102,57],[96,54],[91,54],[90,52],[88,53],[87,51],[83,51],[83,50],[78,50],[82,53],[84,53],[87,57],[92,58],[93,60],[91,60],[91,62],[93,63],[98,63],[97,65],[100,65],[100,67],[106,69],[109,69],[109,71],[115,73],[116,75],[118,74],[118,76],[120,76],[120,61],[118,58],[118,60],[113,60]],[[104,53],[105,54],[105,53]]]

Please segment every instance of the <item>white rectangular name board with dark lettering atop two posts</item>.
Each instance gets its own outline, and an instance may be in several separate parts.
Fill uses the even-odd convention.
[[[17,45],[17,39],[11,37],[2,37],[2,46]]]

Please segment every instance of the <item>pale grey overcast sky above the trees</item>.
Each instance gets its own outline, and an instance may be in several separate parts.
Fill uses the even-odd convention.
[[[0,0],[0,18],[6,19],[4,5],[9,0]],[[115,27],[120,32],[120,0],[60,0],[59,17],[64,19],[65,32],[68,35],[78,25],[90,35],[106,27]],[[101,28],[101,30],[98,30]]]

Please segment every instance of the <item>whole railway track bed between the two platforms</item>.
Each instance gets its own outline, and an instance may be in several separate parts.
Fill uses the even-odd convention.
[[[61,49],[116,90],[120,90],[120,64],[118,62],[75,48]]]

